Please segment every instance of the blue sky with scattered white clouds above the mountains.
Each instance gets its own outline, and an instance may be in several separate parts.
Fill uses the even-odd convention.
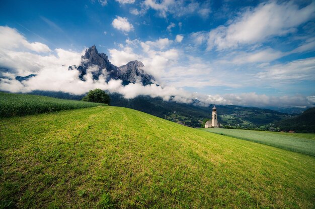
[[[96,45],[117,66],[142,61],[167,87],[156,94],[134,86],[117,90],[126,97],[178,94],[184,102],[195,97],[245,106],[315,103],[314,1],[2,1],[0,26],[0,46],[8,56],[0,59],[2,77],[50,75],[48,58],[76,64],[75,56]],[[26,53],[21,63],[29,64],[13,62],[17,53]],[[59,76],[67,77],[63,70]],[[70,80],[37,79],[24,89],[71,89]],[[4,79],[2,84],[12,92],[23,88]],[[94,87],[86,84],[82,91]],[[65,89],[56,90],[82,93]]]

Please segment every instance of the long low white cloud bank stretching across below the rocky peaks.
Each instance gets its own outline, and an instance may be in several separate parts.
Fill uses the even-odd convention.
[[[122,94],[130,99],[139,95],[162,97],[181,103],[190,103],[198,99],[201,105],[223,104],[242,106],[313,106],[315,96],[305,97],[283,96],[269,97],[256,93],[239,95],[206,95],[187,92],[172,86],[157,86],[155,84],[143,86],[139,83],[122,85],[121,80],[106,82],[105,76],[93,80],[92,71],[88,69],[85,81],[78,78],[79,72],[68,70],[68,66],[79,65],[82,52],[73,52],[64,49],[51,50],[42,43],[30,43],[17,30],[9,27],[0,27],[0,90],[9,92],[62,91],[71,94],[84,94],[91,89],[100,88],[111,93]],[[25,81],[18,81],[16,76],[36,74]]]

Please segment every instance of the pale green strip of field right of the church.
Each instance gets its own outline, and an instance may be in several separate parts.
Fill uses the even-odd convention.
[[[202,130],[315,156],[315,134],[313,133],[280,133],[224,128]]]

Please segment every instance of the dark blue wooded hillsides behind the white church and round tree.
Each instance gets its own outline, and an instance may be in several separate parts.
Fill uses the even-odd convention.
[[[72,95],[64,92],[33,91],[31,94],[56,97],[60,99],[81,100],[85,95]],[[202,120],[211,117],[212,105],[199,106],[198,100],[190,104],[164,101],[161,97],[137,96],[125,99],[118,93],[110,94],[112,106],[127,107],[139,110],[157,117],[191,127],[200,127]],[[234,105],[215,105],[218,119],[222,125],[243,128],[257,128],[269,123],[292,118],[292,115],[257,107],[242,107]]]

